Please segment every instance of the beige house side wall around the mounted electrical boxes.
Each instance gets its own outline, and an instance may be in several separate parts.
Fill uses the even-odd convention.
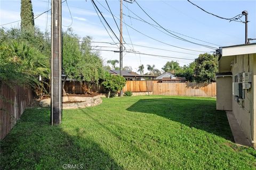
[[[231,67],[231,72],[233,73],[233,76],[241,72],[252,72],[253,74],[251,84],[252,88],[245,90],[245,98],[240,104],[235,101],[235,97],[232,95],[232,111],[246,137],[249,141],[253,141],[253,139],[255,139],[255,128],[253,127],[255,120],[254,122],[252,122],[252,120],[255,115],[253,108],[254,106],[256,107],[253,98],[255,92],[254,83],[256,83],[256,55],[237,55],[234,60],[234,65]]]

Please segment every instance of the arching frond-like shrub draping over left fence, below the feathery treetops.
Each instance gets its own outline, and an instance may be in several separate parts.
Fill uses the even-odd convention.
[[[39,89],[39,75],[49,78],[49,57],[27,43],[10,40],[0,45],[1,81],[13,84],[29,85],[36,92]]]

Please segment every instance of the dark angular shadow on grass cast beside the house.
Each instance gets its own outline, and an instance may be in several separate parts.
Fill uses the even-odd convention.
[[[156,98],[140,99],[127,111],[156,114],[234,141],[226,113],[215,106],[215,100],[209,99]]]

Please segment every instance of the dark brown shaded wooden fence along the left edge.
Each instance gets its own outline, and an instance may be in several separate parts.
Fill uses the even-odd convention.
[[[0,139],[10,132],[25,108],[34,98],[31,89],[13,86],[0,81]]]

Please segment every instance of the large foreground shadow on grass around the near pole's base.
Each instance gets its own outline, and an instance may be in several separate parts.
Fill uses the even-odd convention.
[[[26,109],[21,120],[1,141],[1,169],[123,169],[79,130],[69,135],[49,124],[49,109]],[[82,165],[81,165],[82,164]]]

